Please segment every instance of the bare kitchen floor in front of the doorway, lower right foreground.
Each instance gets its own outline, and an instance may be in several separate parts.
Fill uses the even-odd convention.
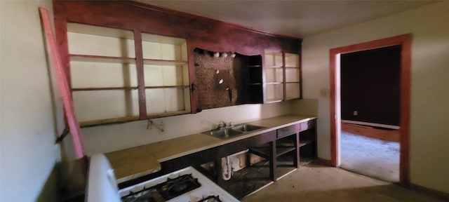
[[[241,201],[437,202],[441,200],[341,168],[310,163]]]

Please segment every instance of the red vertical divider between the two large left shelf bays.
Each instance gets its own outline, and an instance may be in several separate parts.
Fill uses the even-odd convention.
[[[147,119],[147,101],[145,95],[145,72],[143,70],[142,33],[134,30],[135,68],[138,74],[139,117]]]

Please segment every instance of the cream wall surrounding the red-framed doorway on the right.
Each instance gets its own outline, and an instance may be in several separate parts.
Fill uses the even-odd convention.
[[[412,33],[410,180],[449,193],[447,19],[449,1],[443,1],[304,39],[303,90],[319,100],[320,158],[330,159],[329,49]]]

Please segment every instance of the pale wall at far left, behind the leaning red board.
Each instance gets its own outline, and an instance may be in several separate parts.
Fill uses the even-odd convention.
[[[0,201],[58,201],[60,152],[54,142],[63,116],[53,110],[38,10],[42,6],[51,14],[53,6],[51,1],[0,2]]]

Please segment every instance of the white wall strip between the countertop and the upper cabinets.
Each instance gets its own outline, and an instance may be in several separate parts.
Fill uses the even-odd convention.
[[[160,119],[152,119],[157,125],[163,123],[164,131],[156,127],[147,129],[148,121],[81,128],[88,156],[159,142],[175,137],[192,135],[217,127],[220,120],[245,123],[272,116],[288,114],[289,102],[264,105],[237,105],[206,109],[198,114],[185,114]]]

